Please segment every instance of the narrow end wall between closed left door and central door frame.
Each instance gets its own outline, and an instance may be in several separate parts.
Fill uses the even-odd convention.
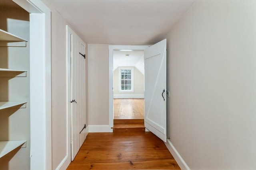
[[[88,44],[88,123],[108,125],[108,44]]]

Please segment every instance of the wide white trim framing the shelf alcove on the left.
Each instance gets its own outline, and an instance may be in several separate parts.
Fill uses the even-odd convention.
[[[30,13],[30,169],[52,169],[51,11],[41,0],[13,0]]]

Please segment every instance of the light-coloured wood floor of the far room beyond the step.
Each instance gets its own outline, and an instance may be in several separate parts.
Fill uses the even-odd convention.
[[[144,119],[144,99],[114,99],[114,119]]]

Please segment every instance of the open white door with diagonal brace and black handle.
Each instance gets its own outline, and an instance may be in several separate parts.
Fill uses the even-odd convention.
[[[166,39],[144,50],[145,127],[166,142]]]

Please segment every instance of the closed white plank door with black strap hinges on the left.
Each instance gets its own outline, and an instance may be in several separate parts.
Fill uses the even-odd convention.
[[[71,160],[74,160],[85,138],[86,70],[85,43],[71,34]]]

